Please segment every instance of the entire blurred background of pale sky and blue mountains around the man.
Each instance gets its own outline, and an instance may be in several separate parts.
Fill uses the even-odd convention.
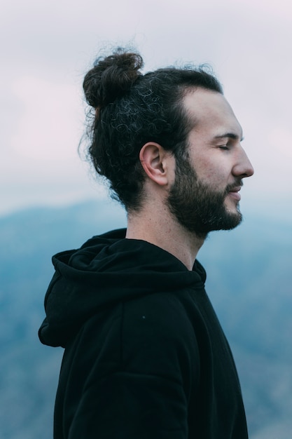
[[[242,124],[255,168],[245,220],[211,234],[199,259],[251,439],[291,439],[291,12],[286,0],[2,0],[0,439],[52,438],[62,350],[37,339],[51,255],[125,225],[78,144],[85,73],[100,50],[129,44],[145,72],[210,64]]]

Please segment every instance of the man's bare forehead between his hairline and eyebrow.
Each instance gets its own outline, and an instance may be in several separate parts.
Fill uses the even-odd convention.
[[[203,88],[191,90],[183,97],[183,106],[196,132],[204,131],[212,137],[223,133],[242,137],[242,127],[221,93]]]

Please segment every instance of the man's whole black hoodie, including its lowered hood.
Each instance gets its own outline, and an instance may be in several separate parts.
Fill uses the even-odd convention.
[[[55,439],[246,439],[199,262],[118,230],[53,257],[41,342],[63,346]]]

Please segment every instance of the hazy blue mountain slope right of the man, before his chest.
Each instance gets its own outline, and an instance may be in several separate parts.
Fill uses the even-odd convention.
[[[235,231],[211,234],[200,259],[234,351],[252,438],[264,430],[265,439],[290,439],[292,228],[249,215]]]

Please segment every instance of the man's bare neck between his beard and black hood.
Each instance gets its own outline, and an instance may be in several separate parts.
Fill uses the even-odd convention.
[[[188,270],[193,269],[197,252],[204,243],[204,238],[181,227],[169,212],[161,215],[152,209],[128,214],[126,238],[157,245],[179,259]]]

